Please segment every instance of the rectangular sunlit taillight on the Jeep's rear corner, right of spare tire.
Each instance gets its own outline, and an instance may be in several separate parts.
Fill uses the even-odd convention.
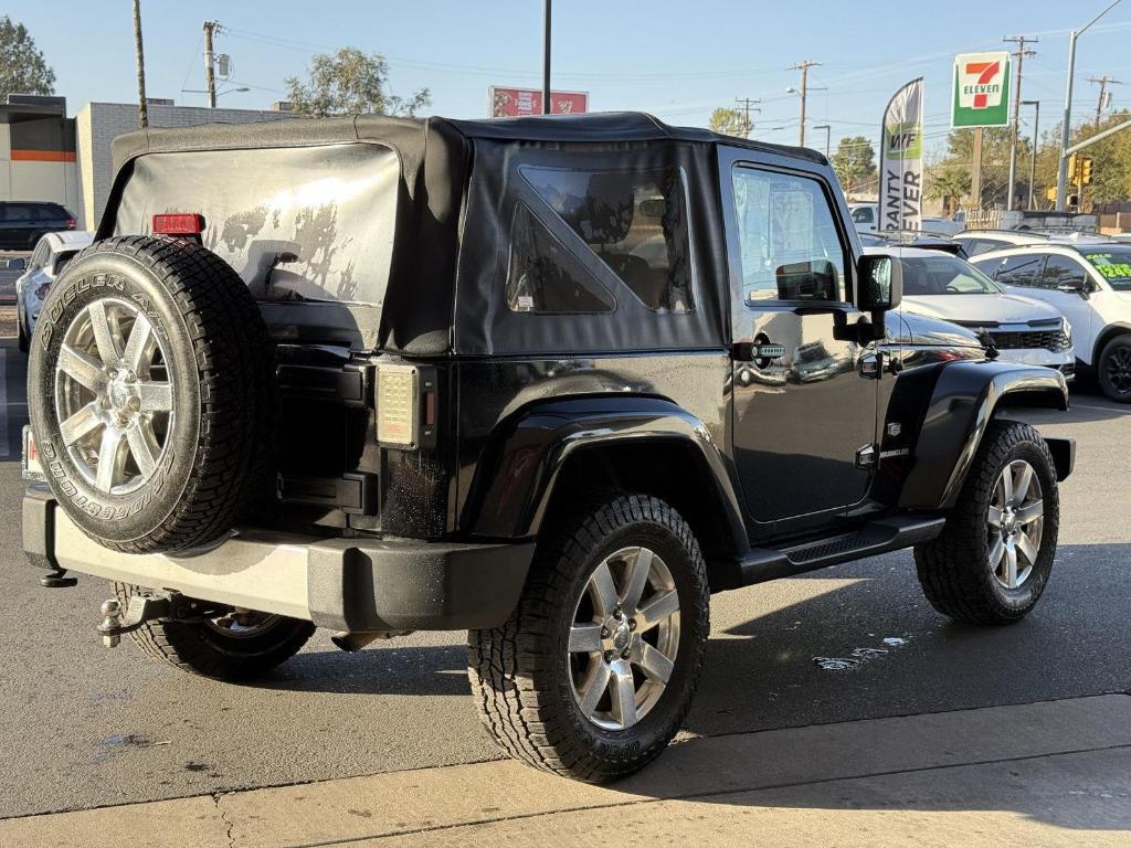
[[[437,370],[381,364],[377,367],[377,441],[389,448],[435,445]]]

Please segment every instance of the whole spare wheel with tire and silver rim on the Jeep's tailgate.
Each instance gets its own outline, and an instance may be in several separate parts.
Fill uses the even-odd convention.
[[[107,239],[68,265],[40,312],[28,407],[48,482],[84,533],[124,553],[206,545],[269,466],[267,328],[211,251]]]

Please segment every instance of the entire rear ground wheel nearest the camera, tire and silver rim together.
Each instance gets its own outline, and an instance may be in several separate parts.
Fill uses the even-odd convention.
[[[470,632],[468,676],[503,751],[603,782],[675,736],[708,631],[691,528],[655,497],[614,495],[542,540],[510,618]]]

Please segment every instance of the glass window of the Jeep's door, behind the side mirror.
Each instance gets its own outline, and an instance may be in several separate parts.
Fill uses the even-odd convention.
[[[745,302],[843,301],[844,245],[821,184],[742,166],[732,180]]]

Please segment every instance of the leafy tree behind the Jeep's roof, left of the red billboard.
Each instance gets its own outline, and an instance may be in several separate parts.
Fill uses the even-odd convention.
[[[389,63],[380,53],[342,47],[336,53],[318,53],[310,60],[310,79],[286,79],[287,98],[297,114],[326,115],[373,113],[414,115],[432,104],[428,88],[412,97],[388,92]]]

